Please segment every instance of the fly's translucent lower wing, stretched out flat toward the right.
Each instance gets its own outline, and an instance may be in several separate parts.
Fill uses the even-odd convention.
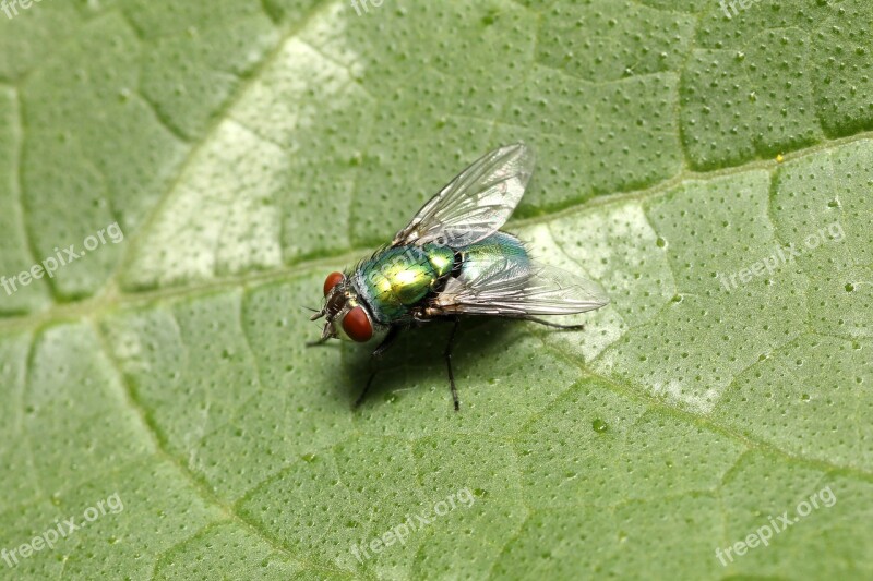
[[[433,303],[440,314],[572,315],[609,303],[594,282],[553,266],[499,261],[473,280],[450,279]]]

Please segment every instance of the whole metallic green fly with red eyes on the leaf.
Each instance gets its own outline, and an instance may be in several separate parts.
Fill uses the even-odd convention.
[[[462,171],[387,244],[345,273],[324,281],[324,303],[312,320],[326,317],[321,344],[332,338],[374,343],[380,358],[411,327],[454,323],[443,353],[455,410],[461,409],[452,371],[458,322],[467,315],[533,320],[578,330],[537,315],[570,315],[606,305],[597,285],[536,263],[524,243],[500,231],[524,195],[534,154],[523,143],[490,152]],[[356,401],[373,383],[373,371]]]

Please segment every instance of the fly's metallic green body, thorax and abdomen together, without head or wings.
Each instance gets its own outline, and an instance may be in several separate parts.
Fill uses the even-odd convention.
[[[459,270],[452,270],[459,262]],[[515,237],[495,232],[459,249],[439,244],[390,247],[361,263],[351,275],[360,298],[383,324],[408,319],[410,310],[438,292],[449,276],[473,280],[494,263],[506,261],[527,269],[530,259]]]

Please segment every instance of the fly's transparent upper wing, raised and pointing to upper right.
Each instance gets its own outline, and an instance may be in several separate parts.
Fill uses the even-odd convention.
[[[392,245],[461,247],[482,240],[510,218],[533,172],[534,153],[523,143],[486,154],[424,204]]]

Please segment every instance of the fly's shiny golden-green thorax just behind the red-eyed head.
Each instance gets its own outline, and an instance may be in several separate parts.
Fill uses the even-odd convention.
[[[452,271],[452,249],[426,244],[387,249],[360,265],[356,273],[359,291],[383,323],[408,315],[440,279]]]

